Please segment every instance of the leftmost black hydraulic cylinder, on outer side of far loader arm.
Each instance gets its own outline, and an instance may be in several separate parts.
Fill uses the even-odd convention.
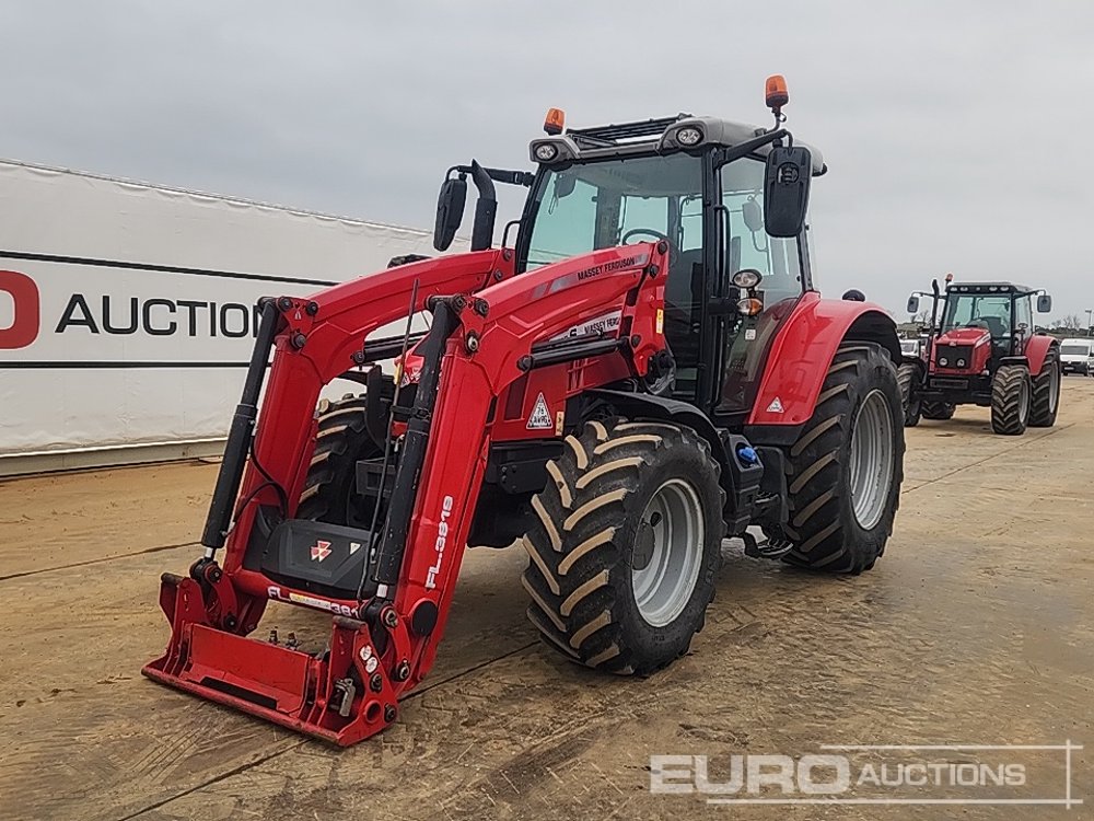
[[[217,476],[217,487],[209,502],[209,514],[206,517],[205,531],[201,533],[201,544],[207,548],[206,558],[212,558],[218,548],[224,546],[228,529],[232,523],[232,506],[240,493],[240,481],[247,463],[247,451],[254,436],[255,418],[258,416],[258,396],[266,378],[266,366],[269,361],[270,348],[274,347],[274,336],[277,334],[278,311],[272,299],[263,301],[261,320],[258,325],[258,337],[251,352],[251,365],[247,366],[247,379],[243,384],[243,395],[235,406],[232,427],[229,429],[228,442],[224,446],[224,460]]]

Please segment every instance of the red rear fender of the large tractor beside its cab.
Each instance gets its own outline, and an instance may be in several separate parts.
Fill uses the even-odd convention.
[[[821,299],[810,292],[779,331],[748,425],[802,425],[813,416],[821,385],[845,340],[881,345],[901,360],[896,323],[880,305]]]

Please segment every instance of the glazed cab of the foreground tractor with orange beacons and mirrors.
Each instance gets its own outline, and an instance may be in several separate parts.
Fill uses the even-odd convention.
[[[535,174],[450,170],[434,244],[447,247],[463,212],[465,183],[478,187],[472,248],[488,247],[491,181],[529,188],[515,228],[515,273],[632,243],[668,248],[664,334],[670,373],[656,392],[735,426],[750,410],[777,332],[813,289],[805,215],[821,152],[780,126],[787,102],[771,78],[773,128],[715,117],[673,117],[567,128],[550,109],[529,154]],[[455,175],[455,176],[454,176]],[[618,312],[616,312],[618,313]],[[601,317],[614,328],[616,316]]]

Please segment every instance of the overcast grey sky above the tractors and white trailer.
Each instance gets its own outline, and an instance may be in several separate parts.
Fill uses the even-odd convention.
[[[0,0],[0,157],[424,228],[449,165],[527,167],[548,106],[766,125],[781,72],[829,167],[823,291],[905,319],[952,270],[1085,321],[1094,3],[897,5]]]

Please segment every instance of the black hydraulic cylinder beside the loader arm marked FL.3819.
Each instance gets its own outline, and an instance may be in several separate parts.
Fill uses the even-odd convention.
[[[463,300],[455,297],[454,300]],[[395,474],[395,486],[392,489],[391,507],[384,523],[384,535],[376,554],[373,581],[385,590],[399,580],[403,569],[403,555],[406,553],[407,534],[410,530],[410,517],[414,514],[418,498],[418,479],[426,462],[426,448],[429,444],[429,429],[433,420],[433,407],[437,405],[437,385],[441,374],[441,357],[449,337],[456,329],[458,320],[455,311],[446,299],[433,300],[433,324],[426,335],[421,347],[422,366],[418,379],[418,390],[415,394],[414,408],[407,423],[407,432],[399,456],[399,467]]]

